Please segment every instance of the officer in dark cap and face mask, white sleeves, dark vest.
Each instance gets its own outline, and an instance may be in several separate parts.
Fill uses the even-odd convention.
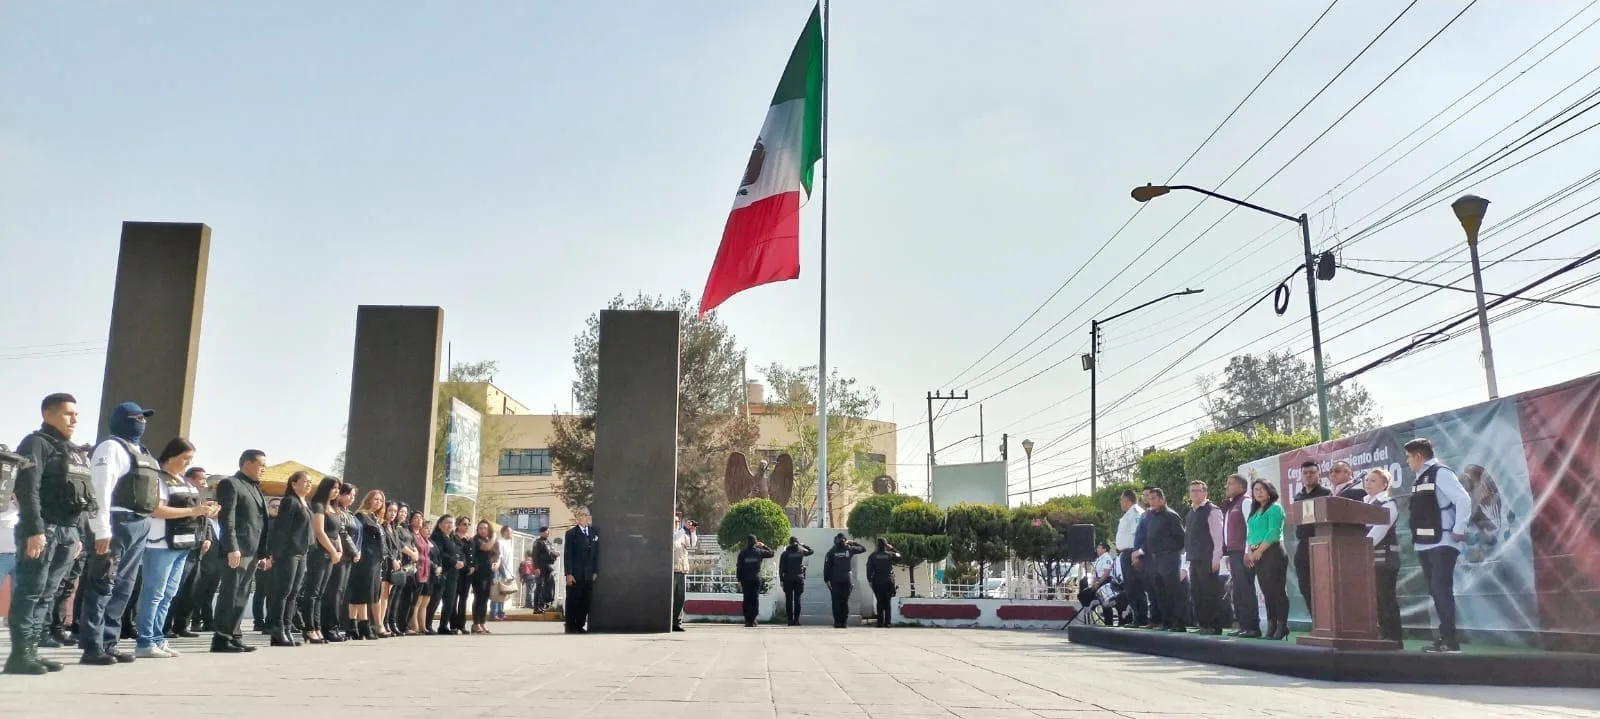
[[[110,437],[94,447],[91,472],[99,509],[90,514],[94,552],[83,567],[83,617],[78,618],[82,665],[109,666],[133,661],[133,652],[117,649],[123,612],[133,599],[144,546],[150,538],[150,512],[162,496],[162,466],[144,448],[144,423],[155,415],[133,402],[112,407]]]

